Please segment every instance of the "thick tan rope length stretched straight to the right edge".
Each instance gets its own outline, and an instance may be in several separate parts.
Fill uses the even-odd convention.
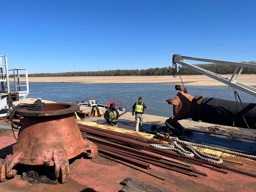
[[[168,139],[167,136],[165,136],[163,134],[160,134],[160,133],[157,133],[157,136],[161,137],[161,138],[164,138],[164,139]],[[224,153],[227,153],[227,154],[231,154],[231,155],[236,155],[236,156],[239,156],[239,157],[244,157],[244,158],[256,160],[256,156],[253,156],[253,155],[247,155],[247,154],[244,154],[244,153],[238,153],[238,152],[234,152],[234,151],[229,151],[229,150],[226,150],[226,149],[223,149],[223,148],[219,148],[219,147],[212,147],[212,146],[208,146],[208,145],[202,145],[202,144],[191,143],[191,142],[187,142],[187,141],[181,141],[177,137],[170,137],[170,139],[174,139],[174,141],[176,141],[177,143],[179,143],[181,145],[188,145],[190,147],[192,147],[192,146],[203,147],[203,148],[206,148],[206,149],[212,149],[212,150],[215,150],[215,151],[221,151],[221,152],[224,152]],[[195,148],[193,148],[193,149],[195,149]]]

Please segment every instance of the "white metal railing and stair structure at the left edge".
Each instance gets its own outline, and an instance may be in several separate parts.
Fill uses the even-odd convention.
[[[0,117],[5,117],[8,109],[13,107],[13,101],[19,101],[21,97],[22,103],[29,94],[28,72],[20,68],[8,70],[7,56],[0,55],[0,82]]]

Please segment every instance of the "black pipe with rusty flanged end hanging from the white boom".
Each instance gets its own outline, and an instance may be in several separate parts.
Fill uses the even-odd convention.
[[[192,118],[194,121],[202,120],[227,126],[255,128],[256,103],[240,103],[218,98],[191,96],[180,85],[175,86],[179,93],[174,99],[166,100],[173,105],[173,118],[168,119],[174,123],[181,119]],[[240,99],[240,98],[239,98]]]

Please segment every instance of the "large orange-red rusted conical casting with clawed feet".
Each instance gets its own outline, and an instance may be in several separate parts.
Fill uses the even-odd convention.
[[[98,156],[97,146],[81,134],[75,121],[77,104],[47,103],[44,111],[19,109],[24,116],[19,137],[9,155],[0,166],[0,181],[15,176],[12,170],[17,163],[54,166],[55,177],[60,183],[69,175],[69,159],[86,152],[89,157]]]

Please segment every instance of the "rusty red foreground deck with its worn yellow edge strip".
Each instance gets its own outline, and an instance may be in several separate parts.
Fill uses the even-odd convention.
[[[10,126],[9,123],[4,122],[4,119],[0,119],[0,124]],[[140,135],[140,137],[147,139],[154,139],[150,134],[135,133],[130,130],[113,128],[96,123],[91,123],[91,125],[102,129],[111,129],[126,134],[130,133],[131,135]],[[17,132],[15,132],[15,134],[17,135]],[[6,155],[12,152],[12,145],[16,140],[14,139],[12,132],[9,130],[0,131],[0,140],[0,161],[2,161]],[[218,155],[218,152],[214,151],[209,153],[215,153]],[[232,166],[233,168],[239,168],[241,171],[251,170],[252,173],[254,173],[256,167],[256,162],[254,160],[248,160],[224,153],[219,154],[219,156],[224,160],[238,162],[238,164],[224,162],[224,165],[228,164],[229,167]],[[197,170],[206,173],[207,176],[199,175],[198,177],[190,177],[175,171],[151,165],[151,169],[147,171],[161,176],[165,179],[165,181],[163,181],[102,157],[91,160],[88,159],[85,154],[82,154],[72,160],[69,160],[69,162],[70,175],[67,176],[67,182],[64,184],[31,184],[27,181],[22,181],[22,172],[29,171],[32,168],[30,166],[19,165],[14,167],[18,172],[13,179],[0,183],[1,191],[119,191],[123,187],[119,183],[127,177],[133,177],[140,181],[147,182],[170,191],[256,191],[255,177],[246,176],[229,170],[225,170],[228,173],[224,174],[198,165],[193,166],[197,168]],[[243,164],[243,166],[239,165],[239,163]]]

